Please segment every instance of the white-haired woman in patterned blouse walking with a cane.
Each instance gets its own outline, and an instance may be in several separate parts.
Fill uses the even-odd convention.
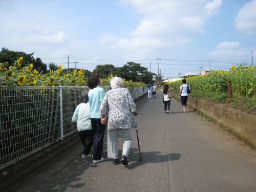
[[[101,121],[106,122],[104,115],[109,111],[108,118],[108,157],[114,159],[114,164],[119,163],[118,159],[118,132],[122,132],[123,151],[121,161],[127,165],[127,156],[130,152],[133,138],[131,128],[137,126],[134,115],[137,115],[136,105],[129,90],[123,88],[123,79],[114,77],[110,80],[111,90],[106,92],[103,102],[100,106]]]

